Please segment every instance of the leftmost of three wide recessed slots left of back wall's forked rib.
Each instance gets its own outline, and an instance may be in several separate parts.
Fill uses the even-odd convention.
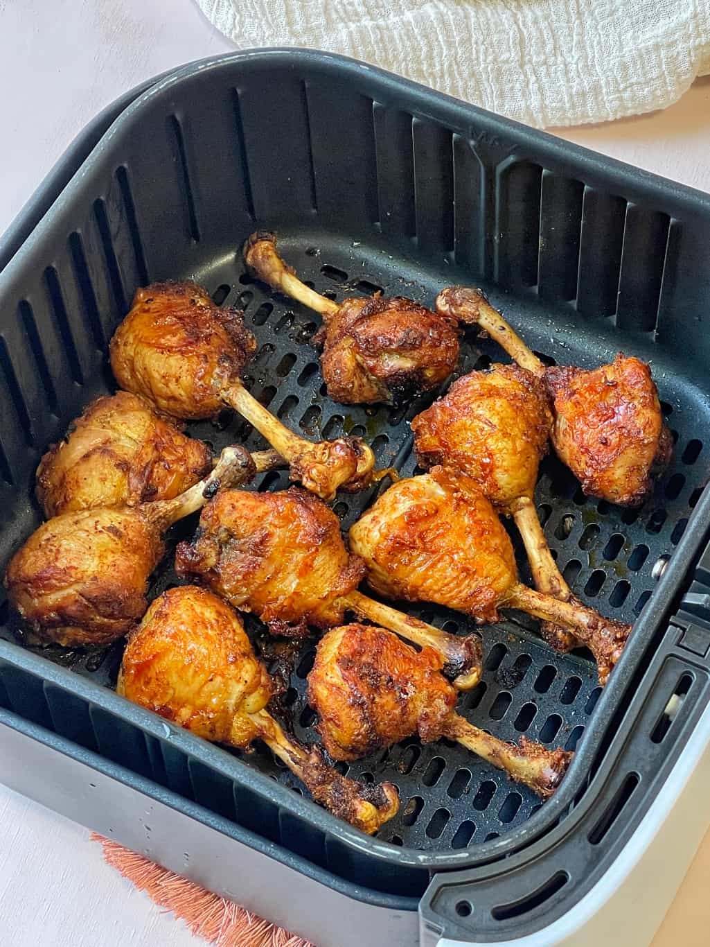
[[[375,102],[372,117],[382,233],[395,238],[414,237],[417,221],[412,116]]]

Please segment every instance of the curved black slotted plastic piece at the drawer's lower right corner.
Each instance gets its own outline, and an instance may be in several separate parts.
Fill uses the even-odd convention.
[[[674,617],[648,669],[648,688],[634,693],[634,683],[612,744],[600,747],[577,805],[550,835],[488,867],[435,874],[419,906],[422,947],[440,938],[508,941],[532,934],[603,875],[648,812],[710,699],[710,622]],[[593,781],[601,786],[597,794],[586,792]]]

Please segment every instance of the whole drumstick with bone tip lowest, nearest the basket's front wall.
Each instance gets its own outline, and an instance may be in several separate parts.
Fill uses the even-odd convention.
[[[244,748],[259,739],[321,805],[374,832],[399,809],[392,783],[364,785],[293,740],[266,709],[274,686],[241,619],[216,596],[186,585],[152,602],[123,654],[116,690],[204,740]]]

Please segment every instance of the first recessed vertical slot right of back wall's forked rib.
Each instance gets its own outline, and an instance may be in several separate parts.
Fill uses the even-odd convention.
[[[499,171],[496,282],[510,289],[538,282],[542,169],[514,161]]]

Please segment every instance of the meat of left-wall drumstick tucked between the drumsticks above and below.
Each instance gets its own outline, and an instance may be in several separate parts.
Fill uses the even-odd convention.
[[[37,499],[49,518],[93,507],[169,500],[212,466],[209,448],[137,395],[92,402],[37,469]]]

